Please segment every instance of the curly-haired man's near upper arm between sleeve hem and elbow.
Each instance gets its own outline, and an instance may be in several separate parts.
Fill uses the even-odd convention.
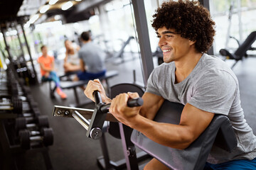
[[[186,129],[184,132],[189,135],[191,142],[193,142],[206,130],[211,120],[213,120],[213,116],[214,113],[203,111],[187,103],[181,113],[179,125],[182,125]]]

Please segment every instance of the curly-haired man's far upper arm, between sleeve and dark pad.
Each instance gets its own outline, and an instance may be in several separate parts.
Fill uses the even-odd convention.
[[[164,98],[156,94],[145,92],[142,96],[142,99],[144,101],[144,104],[142,106],[140,114],[145,118],[153,120],[157,111],[159,111],[159,108],[164,102]]]

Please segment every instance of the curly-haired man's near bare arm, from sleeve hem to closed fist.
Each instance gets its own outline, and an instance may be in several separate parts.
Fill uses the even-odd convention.
[[[153,114],[146,115],[146,118],[142,116],[146,114],[143,111],[150,111],[151,108],[149,108],[147,102],[150,102],[151,99],[154,100],[154,98],[143,97],[144,106],[141,115],[139,114],[140,108],[128,108],[126,104],[123,104],[127,103],[129,97],[129,94],[120,94],[117,98],[114,98],[110,106],[110,113],[120,122],[142,132],[154,142],[176,149],[185,149],[191,145],[206,130],[214,115],[187,103],[181,113],[179,125],[157,123],[149,120],[153,117]]]

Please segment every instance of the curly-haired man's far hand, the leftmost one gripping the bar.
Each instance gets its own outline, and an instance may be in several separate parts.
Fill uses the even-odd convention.
[[[106,96],[106,92],[99,79],[90,80],[86,86],[84,91],[85,96],[90,98],[95,102],[95,98],[93,96],[94,91],[100,91],[100,96],[102,97],[102,101],[105,103],[111,103],[111,99]]]

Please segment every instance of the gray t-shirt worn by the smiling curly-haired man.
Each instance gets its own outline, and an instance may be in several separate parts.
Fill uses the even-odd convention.
[[[190,103],[203,111],[228,115],[238,146],[232,153],[213,147],[208,162],[219,164],[233,159],[254,159],[256,137],[247,125],[240,105],[238,79],[225,62],[203,54],[191,74],[175,84],[175,64],[164,63],[151,73],[146,92],[162,96],[168,101]]]

